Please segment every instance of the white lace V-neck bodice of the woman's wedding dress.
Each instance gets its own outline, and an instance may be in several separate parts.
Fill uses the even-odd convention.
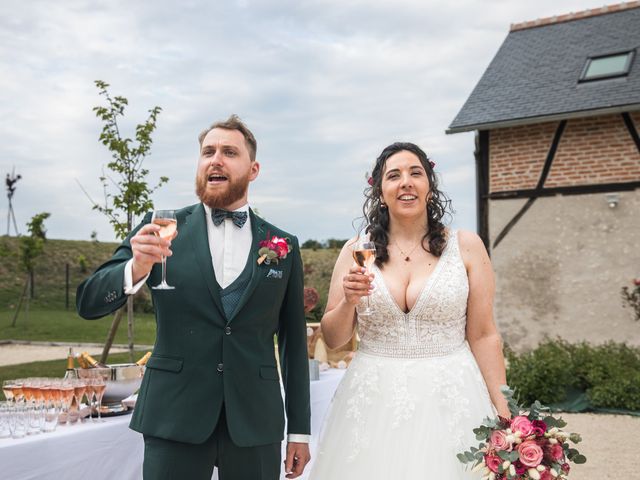
[[[398,358],[422,358],[449,354],[465,342],[469,281],[456,231],[449,232],[435,269],[404,313],[385,285],[382,272],[373,267],[374,290],[369,296],[373,313],[358,317],[363,352]],[[364,307],[366,299],[361,300]]]

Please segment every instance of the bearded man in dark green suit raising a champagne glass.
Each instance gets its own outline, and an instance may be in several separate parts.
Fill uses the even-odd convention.
[[[201,203],[176,211],[178,234],[171,239],[155,235],[159,226],[147,214],[78,287],[78,313],[102,317],[143,283],[157,285],[162,255],[168,257],[167,283],[175,289],[151,290],[157,336],[131,419],[131,428],[144,434],[147,480],[209,480],[214,466],[220,480],[279,477],[284,414],[277,334],[288,430],[285,471],[296,478],[310,458],[298,241],[247,205],[260,165],[246,125],[233,115],[199,140]],[[277,244],[270,262],[259,262],[263,240]]]

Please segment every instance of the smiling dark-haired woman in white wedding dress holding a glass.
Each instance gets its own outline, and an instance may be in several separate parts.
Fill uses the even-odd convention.
[[[322,333],[358,352],[320,436],[313,480],[467,479],[456,453],[495,411],[509,417],[494,277],[480,238],[445,228],[449,201],[433,164],[412,143],[376,161],[367,192],[372,271],[347,242],[333,271]],[[372,312],[358,315],[366,306]]]

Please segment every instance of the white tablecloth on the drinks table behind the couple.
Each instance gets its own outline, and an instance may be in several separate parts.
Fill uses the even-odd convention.
[[[311,382],[312,457],[322,420],[344,372],[322,372],[320,380]],[[130,419],[123,415],[104,423],[59,426],[53,433],[0,439],[0,476],[12,480],[139,480],[144,445],[142,435],[129,429]],[[283,450],[285,445],[283,442]],[[217,478],[215,473],[213,478]]]

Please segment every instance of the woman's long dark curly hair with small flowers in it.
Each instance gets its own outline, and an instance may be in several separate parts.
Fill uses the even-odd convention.
[[[392,155],[408,151],[418,157],[424,167],[429,179],[431,198],[427,203],[427,231],[422,238],[422,248],[431,254],[439,257],[447,243],[445,238],[445,225],[443,218],[451,218],[451,200],[438,189],[438,179],[427,154],[420,147],[409,142],[396,142],[384,150],[376,159],[376,165],[371,173],[371,186],[365,189],[366,200],[362,207],[364,217],[368,222],[366,232],[369,238],[376,245],[376,265],[381,267],[389,260],[389,209],[383,206],[380,197],[382,196],[382,174],[385,170],[387,159]],[[425,242],[429,248],[425,247]]]

